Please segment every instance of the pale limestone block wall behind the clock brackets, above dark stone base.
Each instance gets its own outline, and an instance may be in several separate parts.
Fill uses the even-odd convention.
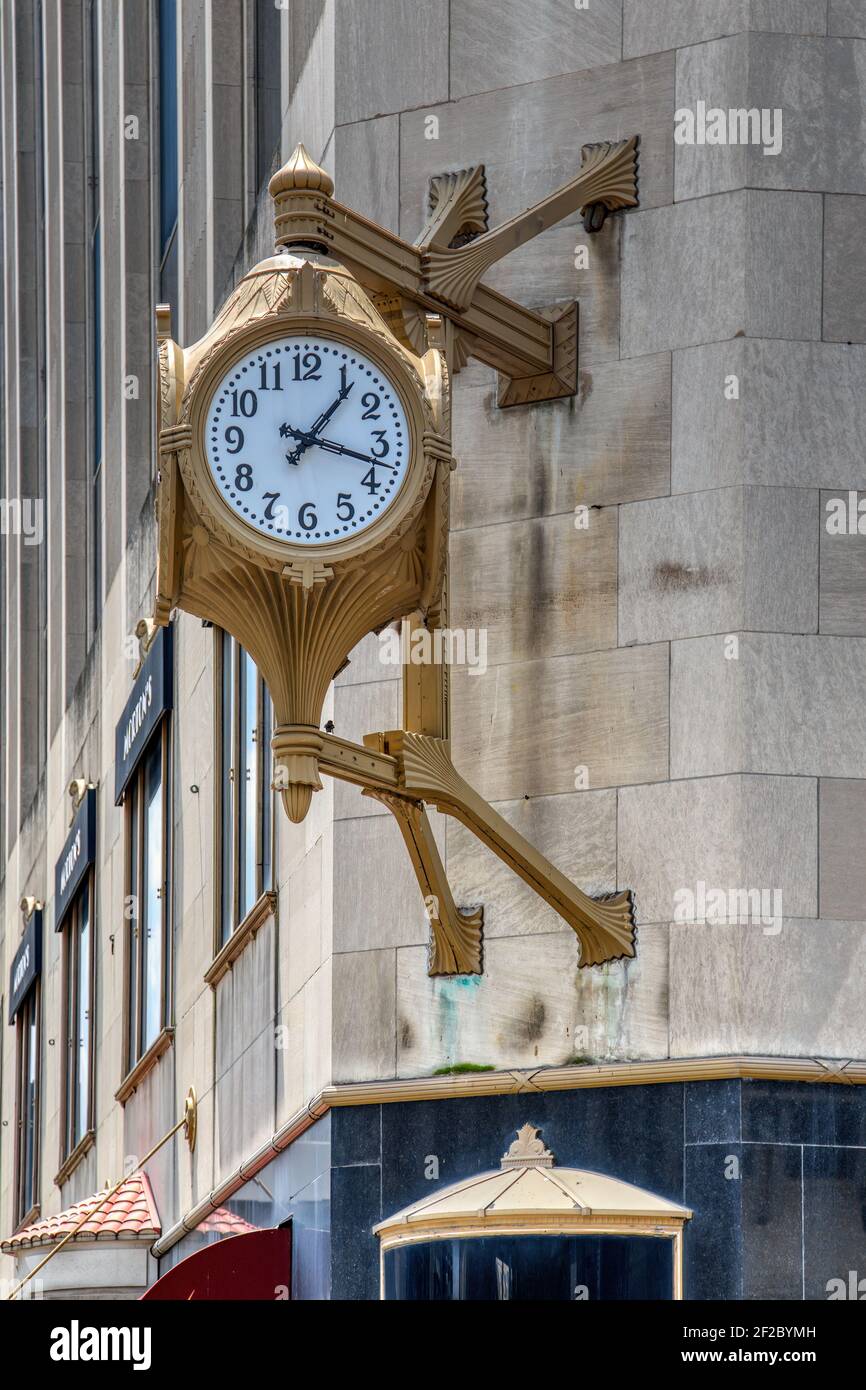
[[[370,93],[385,58],[363,33],[363,79],[339,81],[339,6],[335,22],[325,163],[338,197],[402,235],[443,170],[485,164],[496,224],[584,142],[642,142],[639,210],[592,239],[573,218],[489,275],[537,307],[578,296],[580,392],[500,411],[491,371],[460,373],[450,552],[452,626],[488,641],[484,676],[455,671],[455,760],[577,883],[634,890],[638,955],[580,972],[556,915],[446,823],[457,899],[485,905],[485,969],[430,980],[396,833],[338,792],[354,873],[335,894],[335,1079],[858,1055],[866,560],[826,528],[828,499],[863,486],[851,7],[457,0],[448,61],[428,40],[403,107],[384,75]],[[403,14],[411,54],[423,22]],[[698,101],[780,108],[780,152],[676,145]],[[393,713],[388,676],[367,655],[341,677],[339,733]],[[726,920],[677,920],[699,884],[724,890]],[[767,922],[738,920],[749,891]]]

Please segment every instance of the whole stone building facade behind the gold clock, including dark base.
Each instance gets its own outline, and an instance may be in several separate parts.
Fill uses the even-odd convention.
[[[466,1177],[528,1120],[694,1211],[687,1297],[827,1297],[865,1258],[862,7],[4,0],[0,42],[4,1277],[14,1232],[135,1166],[192,1086],[195,1154],[147,1165],[139,1283],[217,1209],[293,1218],[296,1297],[375,1298],[373,1226],[431,1156]],[[770,125],[680,142],[701,104]],[[455,763],[585,891],[634,891],[635,958],[581,970],[553,909],[436,817],[484,972],[431,979],[392,817],[332,783],[300,826],[271,806],[267,694],[183,613],[138,933],[152,851],[117,730],[154,598],[154,306],[204,332],[271,253],[297,142],[411,239],[436,174],[484,164],[496,225],[635,132],[638,208],[487,277],[580,300],[580,386],[502,410],[489,368],[460,371],[450,539],[450,626],[487,644],[452,673]],[[325,716],[360,739],[399,709],[370,637]],[[72,780],[86,913],[56,877]],[[50,1287],[120,1289],[97,1264]]]

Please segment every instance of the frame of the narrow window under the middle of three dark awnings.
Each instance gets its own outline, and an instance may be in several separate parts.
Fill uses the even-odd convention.
[[[78,1159],[86,1154],[95,1138],[95,1086],[96,1086],[96,877],[93,869],[85,874],[72,902],[70,903],[61,926],[63,935],[63,1040],[64,1058],[61,1063],[61,1098],[60,1098],[60,1170],[54,1182],[60,1187]],[[78,1017],[79,984],[81,984],[81,919],[82,906],[88,903],[88,1106],[81,1125],[81,1134],[75,1136],[71,1127],[71,1087],[78,1083],[79,1069],[72,1065],[72,1024]],[[74,1108],[72,1108],[74,1109]]]

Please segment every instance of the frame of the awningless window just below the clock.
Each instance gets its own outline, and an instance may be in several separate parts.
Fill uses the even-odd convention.
[[[214,963],[247,927],[253,933],[263,916],[274,910],[275,894],[275,821],[272,790],[272,752],[270,734],[274,728],[274,709],[264,677],[242,644],[224,628],[214,627]],[[231,651],[231,730],[227,731],[227,648]],[[256,883],[247,910],[240,913],[242,866],[242,809],[238,795],[242,753],[242,687],[240,673],[249,657],[256,671]],[[225,748],[231,734],[231,766],[227,777]],[[231,808],[227,816],[227,788],[231,787]],[[225,915],[227,844],[231,845],[231,913]],[[213,969],[213,967],[211,967]],[[209,977],[210,977],[209,972]]]

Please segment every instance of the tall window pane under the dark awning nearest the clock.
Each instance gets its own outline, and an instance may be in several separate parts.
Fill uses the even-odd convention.
[[[168,758],[163,720],[125,794],[126,808],[126,1073],[168,1026]]]

